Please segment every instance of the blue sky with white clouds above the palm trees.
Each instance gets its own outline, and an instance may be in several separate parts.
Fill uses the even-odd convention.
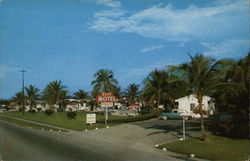
[[[238,60],[249,52],[247,0],[0,0],[0,98],[61,80],[91,91],[110,69],[124,89],[187,53]]]

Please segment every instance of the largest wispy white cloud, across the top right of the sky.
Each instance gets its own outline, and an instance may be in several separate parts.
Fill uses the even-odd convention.
[[[245,0],[218,1],[208,7],[190,5],[184,9],[176,9],[171,4],[156,5],[115,18],[95,16],[89,28],[169,41],[218,39],[248,33],[248,7]]]

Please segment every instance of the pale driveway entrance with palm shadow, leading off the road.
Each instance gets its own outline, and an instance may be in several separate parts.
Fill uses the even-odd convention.
[[[199,121],[186,121],[186,137],[200,134]],[[106,129],[84,132],[85,135],[104,140],[124,140],[141,147],[154,147],[182,138],[182,120],[148,120],[123,124]]]

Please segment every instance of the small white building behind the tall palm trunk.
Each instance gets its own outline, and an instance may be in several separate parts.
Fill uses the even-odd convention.
[[[177,103],[178,110],[183,110],[188,113],[192,113],[199,104],[196,95],[185,96],[176,99],[175,102]],[[203,110],[207,112],[207,115],[213,115],[215,111],[214,99],[208,96],[203,96],[202,107]]]

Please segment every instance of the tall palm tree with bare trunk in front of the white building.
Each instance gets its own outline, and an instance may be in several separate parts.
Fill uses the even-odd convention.
[[[190,91],[196,94],[198,99],[197,112],[200,114],[200,126],[201,136],[206,141],[207,136],[204,126],[204,109],[203,109],[203,97],[205,94],[211,94],[218,87],[224,87],[227,85],[236,85],[235,83],[222,82],[225,72],[223,71],[223,60],[215,61],[212,58],[205,57],[203,54],[197,54],[192,57],[188,63],[181,64],[180,66],[173,67],[175,71],[186,79],[189,84]]]

